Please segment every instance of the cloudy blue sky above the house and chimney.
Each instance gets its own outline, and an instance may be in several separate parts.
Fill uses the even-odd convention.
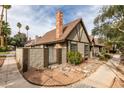
[[[8,22],[12,29],[12,36],[19,31],[17,23],[20,22],[22,24],[21,32],[26,33],[25,26],[28,25],[29,37],[35,38],[36,35],[43,36],[55,28],[55,14],[60,9],[63,12],[64,24],[82,18],[88,33],[91,34],[91,30],[94,28],[94,18],[101,7],[98,5],[17,5],[8,10]]]

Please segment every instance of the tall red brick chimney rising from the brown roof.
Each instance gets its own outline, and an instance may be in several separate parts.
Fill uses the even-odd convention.
[[[59,39],[63,34],[63,13],[58,10],[56,12],[56,39]]]

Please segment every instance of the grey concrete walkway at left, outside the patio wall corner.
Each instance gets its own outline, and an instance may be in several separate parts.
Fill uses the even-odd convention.
[[[35,88],[40,86],[28,83],[18,71],[14,57],[7,57],[0,68],[0,87]]]

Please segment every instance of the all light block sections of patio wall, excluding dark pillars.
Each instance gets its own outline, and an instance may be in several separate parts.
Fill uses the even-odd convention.
[[[21,66],[21,69],[23,68],[23,64],[24,62],[26,62],[28,64],[28,69],[30,69],[31,67],[33,68],[37,68],[37,69],[42,69],[44,68],[44,48],[26,48],[26,50],[28,49],[28,54],[24,53],[25,48],[21,48],[21,49],[16,49],[16,60],[19,63],[19,65]],[[56,62],[57,56],[56,56],[56,48],[52,48],[53,49],[53,53],[49,53],[48,57],[46,57],[47,59],[49,59],[49,61],[54,61]],[[62,48],[62,63],[66,63],[66,56],[67,56],[67,48],[63,47]],[[24,61],[24,59],[26,59]],[[45,61],[46,62],[46,61]]]

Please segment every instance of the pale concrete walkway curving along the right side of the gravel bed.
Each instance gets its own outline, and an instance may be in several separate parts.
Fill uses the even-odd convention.
[[[119,55],[114,55],[107,64],[102,65],[98,70],[88,78],[78,82],[77,84],[71,85],[70,87],[97,87],[97,88],[108,88],[111,87],[116,75],[113,73],[111,62],[118,65],[120,60]]]

